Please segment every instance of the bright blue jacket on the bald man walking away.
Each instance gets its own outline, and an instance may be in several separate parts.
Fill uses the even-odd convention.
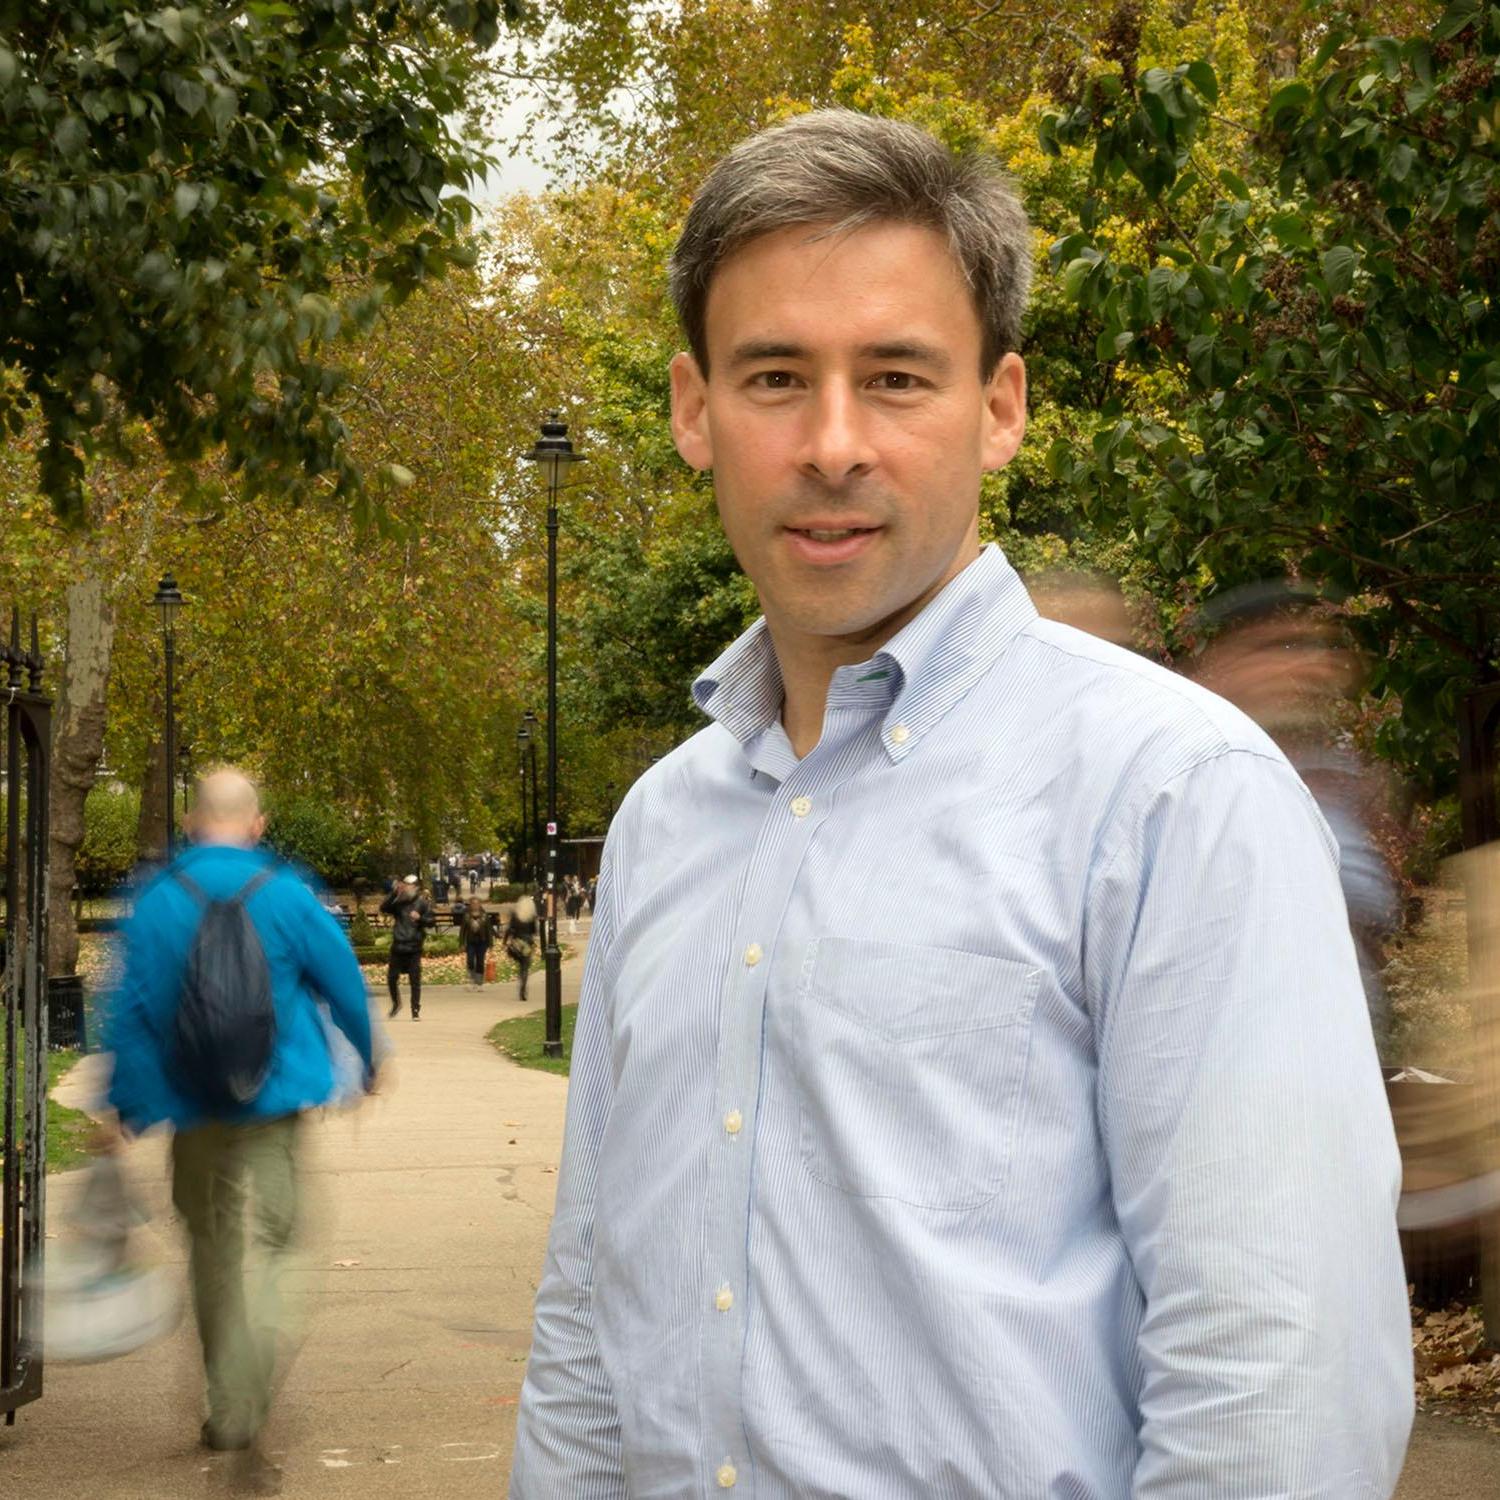
[[[171,868],[189,874],[210,900],[224,900],[273,862],[258,849],[206,844],[178,856]],[[262,885],[246,910],[270,969],[276,1050],[261,1092],[244,1108],[218,1118],[273,1119],[333,1098],[333,1060],[320,1002],[358,1053],[368,1083],[374,1071],[369,1000],[339,924],[290,867]],[[204,1119],[202,1107],[182,1094],[168,1071],[183,969],[201,915],[192,896],[165,872],[142,891],[124,930],[124,963],[105,1020],[105,1047],[114,1053],[108,1101],[132,1131],[162,1120],[183,1130]]]

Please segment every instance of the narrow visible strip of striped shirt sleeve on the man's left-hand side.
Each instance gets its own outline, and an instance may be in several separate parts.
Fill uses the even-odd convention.
[[[594,1200],[609,1120],[614,944],[609,854],[588,940],[573,1035],[567,1130],[548,1258],[520,1392],[510,1500],[626,1500],[620,1414],[594,1330]]]

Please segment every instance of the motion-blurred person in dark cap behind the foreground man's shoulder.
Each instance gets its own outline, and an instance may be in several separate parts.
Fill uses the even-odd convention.
[[[1340,884],[1370,1023],[1382,1062],[1389,1062],[1390,1012],[1380,970],[1401,909],[1390,868],[1370,834],[1386,789],[1340,732],[1336,716],[1359,692],[1359,654],[1330,603],[1282,579],[1216,596],[1197,622],[1214,634],[1188,666],[1190,675],[1276,741],[1338,840]]]

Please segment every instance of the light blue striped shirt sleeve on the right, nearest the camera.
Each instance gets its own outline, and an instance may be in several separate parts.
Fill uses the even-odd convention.
[[[1158,790],[1089,898],[1098,1119],[1144,1298],[1136,1500],[1386,1500],[1401,1184],[1334,846],[1269,754]]]

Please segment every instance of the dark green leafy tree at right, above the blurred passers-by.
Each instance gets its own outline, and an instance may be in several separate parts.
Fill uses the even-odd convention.
[[[1096,354],[1160,381],[1052,465],[1174,576],[1290,568],[1348,597],[1389,705],[1378,742],[1452,784],[1466,686],[1500,669],[1500,16],[1425,36],[1330,27],[1260,122],[1254,176],[1209,176],[1206,58],[1101,74],[1050,112],[1100,195],[1160,216],[1144,264],[1088,220],[1053,248]],[[1188,210],[1197,210],[1188,218]]]

